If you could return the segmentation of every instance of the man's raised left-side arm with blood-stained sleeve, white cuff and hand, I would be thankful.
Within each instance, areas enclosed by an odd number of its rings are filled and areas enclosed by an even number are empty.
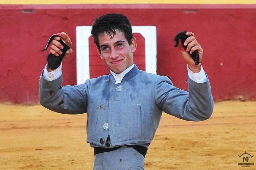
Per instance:
[[[61,54],[63,46],[58,42],[60,37],[55,37],[52,41],[52,46],[49,53],[56,56]],[[72,53],[69,49],[64,56],[68,57]],[[75,86],[62,87],[61,66],[51,70],[46,67],[40,76],[39,82],[39,101],[42,106],[59,113],[65,114],[81,114],[87,109],[87,94],[89,91],[90,82]]]

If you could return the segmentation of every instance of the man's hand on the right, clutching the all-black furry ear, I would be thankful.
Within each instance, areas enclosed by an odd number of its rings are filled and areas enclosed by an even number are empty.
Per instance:
[[[193,73],[198,73],[201,70],[200,62],[203,58],[203,49],[202,49],[201,45],[195,39],[194,33],[186,32],[186,35],[190,36],[184,42],[184,46],[187,46],[187,49],[185,50],[183,48],[183,45],[181,44],[181,41],[179,40],[180,52],[181,52],[181,55],[183,56],[184,60],[187,62],[189,69]],[[194,52],[196,50],[198,51],[198,54],[199,54],[199,64],[198,65],[195,64],[195,61],[189,55],[189,53],[192,54],[192,52]]]

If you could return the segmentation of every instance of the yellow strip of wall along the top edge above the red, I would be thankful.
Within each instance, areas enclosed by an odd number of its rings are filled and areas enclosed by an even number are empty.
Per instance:
[[[0,4],[256,4],[256,0],[0,0]]]

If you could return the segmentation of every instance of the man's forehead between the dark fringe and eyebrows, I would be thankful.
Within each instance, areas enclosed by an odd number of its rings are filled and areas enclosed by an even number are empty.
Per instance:
[[[118,29],[115,29],[115,31],[116,34],[112,39],[106,32],[100,33],[98,35],[99,45],[101,46],[102,44],[114,44],[115,42],[120,40],[127,42],[126,37],[124,36],[124,33],[122,31]],[[113,36],[113,34],[111,36]]]

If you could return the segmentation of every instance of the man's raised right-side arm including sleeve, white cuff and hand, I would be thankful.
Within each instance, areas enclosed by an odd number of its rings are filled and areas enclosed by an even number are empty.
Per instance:
[[[186,32],[186,35],[189,36],[184,42],[184,46],[187,46],[186,50],[183,48],[181,40],[179,40],[179,48],[189,67],[189,92],[174,87],[167,77],[161,77],[155,85],[155,100],[158,107],[170,115],[188,121],[203,121],[210,118],[213,112],[211,86],[200,63],[203,49],[197,42],[194,33]],[[199,55],[198,65],[189,55],[195,50]]]

